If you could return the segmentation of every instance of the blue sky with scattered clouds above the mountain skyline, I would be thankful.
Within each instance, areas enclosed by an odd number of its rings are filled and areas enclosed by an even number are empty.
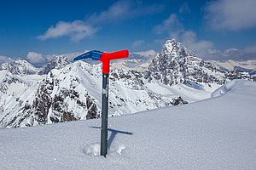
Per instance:
[[[255,2],[3,0],[0,62],[85,49],[160,51],[170,38],[204,59],[256,59]]]

